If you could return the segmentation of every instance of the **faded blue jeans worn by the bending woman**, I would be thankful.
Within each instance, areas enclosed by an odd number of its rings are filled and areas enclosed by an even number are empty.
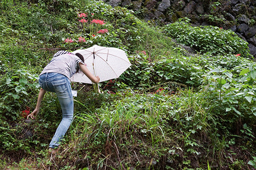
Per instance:
[[[73,119],[74,101],[70,81],[59,73],[47,72],[39,77],[39,85],[46,91],[55,92],[61,106],[62,119],[49,145],[50,148],[55,148],[58,147]]]

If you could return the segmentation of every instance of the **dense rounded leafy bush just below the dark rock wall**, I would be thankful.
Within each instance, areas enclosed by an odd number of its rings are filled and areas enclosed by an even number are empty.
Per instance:
[[[168,36],[178,42],[194,47],[200,53],[209,54],[241,54],[250,57],[248,43],[240,39],[231,30],[218,27],[191,27],[187,20],[169,24],[165,27]]]

